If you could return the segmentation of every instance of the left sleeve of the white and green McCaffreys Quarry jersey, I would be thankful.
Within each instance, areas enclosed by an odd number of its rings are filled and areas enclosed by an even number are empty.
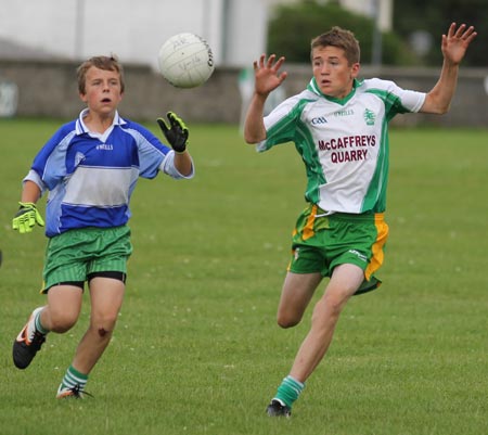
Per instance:
[[[256,144],[258,152],[265,152],[274,145],[294,140],[296,123],[300,117],[299,107],[298,95],[291,97],[265,117],[266,139]]]

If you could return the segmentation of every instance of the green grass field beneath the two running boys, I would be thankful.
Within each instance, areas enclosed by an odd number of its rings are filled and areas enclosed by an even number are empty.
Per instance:
[[[235,126],[190,126],[194,180],[140,181],[127,296],[87,386],[94,398],[54,398],[88,294],[72,331],[13,367],[12,341],[43,303],[46,239],[14,233],[11,218],[59,124],[0,120],[2,435],[487,433],[488,130],[391,131],[384,285],[348,304],[284,420],[265,408],[309,328],[310,309],[295,329],[275,324],[305,174],[293,146],[257,155]]]

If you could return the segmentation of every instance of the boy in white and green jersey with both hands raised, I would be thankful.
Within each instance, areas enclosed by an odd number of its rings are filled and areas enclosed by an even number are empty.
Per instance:
[[[444,114],[454,94],[459,64],[476,33],[452,23],[442,35],[440,77],[427,92],[391,81],[358,80],[360,49],[352,33],[333,27],[311,42],[313,78],[264,117],[269,93],[286,78],[284,57],[254,62],[255,90],[244,126],[258,151],[294,142],[307,171],[308,207],[293,233],[293,255],[278,307],[282,328],[296,325],[317,286],[330,277],[311,329],[290,374],[267,408],[290,417],[306,380],[324,357],[342,309],[354,295],[374,290],[388,235],[384,221],[388,177],[388,121],[398,113]]]

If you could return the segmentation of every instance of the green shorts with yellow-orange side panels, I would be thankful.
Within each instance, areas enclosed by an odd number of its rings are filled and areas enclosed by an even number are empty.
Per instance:
[[[364,293],[381,284],[374,273],[383,264],[387,238],[383,214],[325,216],[317,205],[310,205],[297,219],[287,270],[331,277],[338,265],[356,265],[364,271],[364,282],[356,294]]]

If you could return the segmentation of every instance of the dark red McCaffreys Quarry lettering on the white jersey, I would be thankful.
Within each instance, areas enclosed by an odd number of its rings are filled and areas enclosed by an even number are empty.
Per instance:
[[[369,148],[375,145],[374,135],[345,136],[330,141],[319,140],[319,150],[330,151],[332,163],[365,161]]]

